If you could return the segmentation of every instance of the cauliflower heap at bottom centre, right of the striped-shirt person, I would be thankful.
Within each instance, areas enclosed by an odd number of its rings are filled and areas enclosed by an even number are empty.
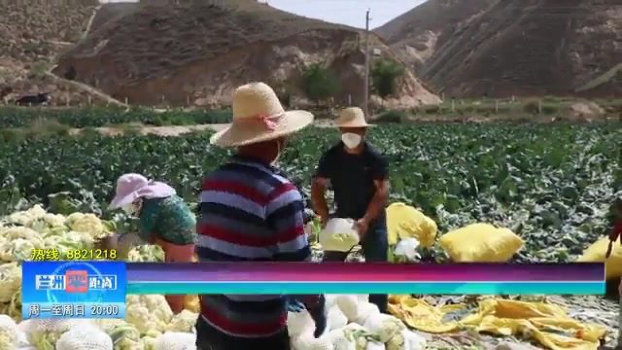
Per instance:
[[[293,350],[422,350],[425,339],[394,316],[380,313],[367,295],[326,295],[327,330],[313,337],[315,323],[304,310],[287,314]]]

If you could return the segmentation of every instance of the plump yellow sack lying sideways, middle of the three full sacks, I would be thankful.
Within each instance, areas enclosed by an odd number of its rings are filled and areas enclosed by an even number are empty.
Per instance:
[[[453,230],[439,243],[454,262],[507,262],[524,244],[511,230],[483,222]]]

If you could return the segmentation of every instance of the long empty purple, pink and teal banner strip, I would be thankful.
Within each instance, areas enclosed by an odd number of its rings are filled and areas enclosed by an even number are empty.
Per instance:
[[[130,294],[598,295],[602,263],[128,263]]]

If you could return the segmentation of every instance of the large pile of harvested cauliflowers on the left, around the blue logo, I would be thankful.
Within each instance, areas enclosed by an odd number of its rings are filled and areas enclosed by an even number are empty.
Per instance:
[[[198,313],[184,310],[173,315],[163,295],[128,296],[124,320],[34,319],[16,323],[22,315],[21,262],[32,259],[33,249],[56,250],[57,258],[62,258],[69,250],[92,248],[113,233],[110,227],[113,225],[93,214],[50,214],[40,206],[0,219],[0,350],[195,349]],[[162,262],[164,251],[157,245],[139,245],[129,252],[128,260]]]

